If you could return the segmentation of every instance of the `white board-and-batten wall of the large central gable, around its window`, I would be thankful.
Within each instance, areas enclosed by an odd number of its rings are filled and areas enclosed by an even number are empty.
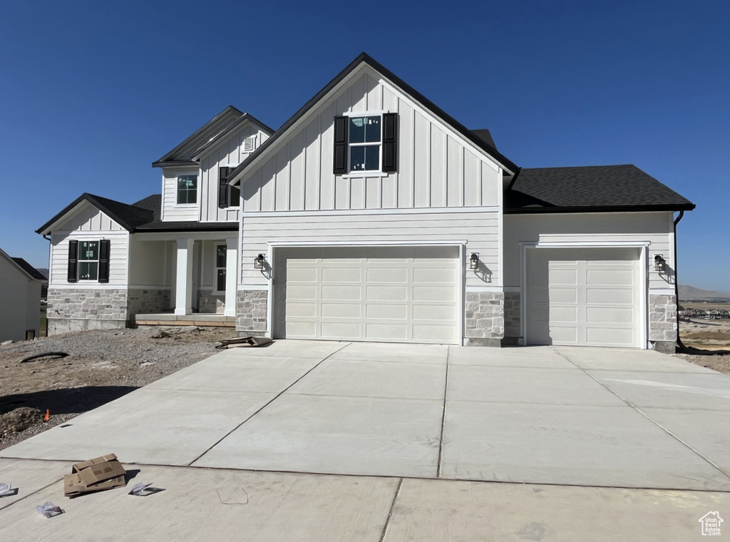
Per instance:
[[[354,112],[398,115],[396,172],[334,174],[334,118]],[[501,199],[502,164],[367,63],[282,130],[242,167],[244,211],[477,207]]]

